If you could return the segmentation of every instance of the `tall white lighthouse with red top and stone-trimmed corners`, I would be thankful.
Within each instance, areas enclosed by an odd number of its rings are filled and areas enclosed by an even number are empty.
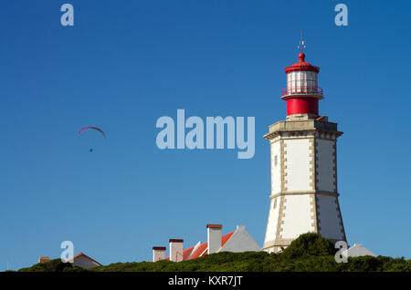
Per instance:
[[[301,42],[301,44],[303,44]],[[271,155],[269,218],[263,250],[277,253],[302,233],[320,233],[345,241],[337,188],[337,123],[319,114],[323,98],[320,67],[301,51],[299,61],[285,68],[287,118],[269,126],[264,136]]]

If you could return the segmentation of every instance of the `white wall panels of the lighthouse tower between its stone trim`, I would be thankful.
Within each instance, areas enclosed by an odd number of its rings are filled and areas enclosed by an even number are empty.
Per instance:
[[[296,131],[294,136],[285,133],[285,136],[271,140],[271,196],[282,192],[281,188],[281,156],[280,142],[284,142],[284,181],[285,202],[282,210],[280,224],[280,237],[277,237],[277,225],[279,222],[280,197],[277,198],[277,206],[274,208],[275,199],[269,202],[269,218],[266,228],[264,243],[276,241],[276,239],[295,239],[301,233],[316,232],[315,215],[318,214],[319,233],[324,237],[343,240],[342,218],[335,196],[316,194],[318,198],[317,210],[311,194],[317,191],[337,192],[336,188],[336,164],[334,140],[315,139],[317,152],[314,157],[312,147],[312,132],[307,133],[308,138],[304,138]],[[302,137],[302,138],[301,138]],[[277,156],[277,166],[275,165]],[[314,174],[314,158],[316,158],[316,177]],[[317,189],[315,188],[317,180]],[[299,194],[301,193],[301,194]]]

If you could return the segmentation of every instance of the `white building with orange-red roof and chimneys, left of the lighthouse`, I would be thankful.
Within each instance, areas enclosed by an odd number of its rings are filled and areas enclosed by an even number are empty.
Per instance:
[[[165,260],[181,262],[193,260],[219,252],[248,252],[261,251],[261,247],[246,231],[245,226],[237,225],[234,232],[222,235],[221,224],[207,224],[207,242],[198,242],[195,245],[184,249],[184,241],[181,239],[170,239],[170,256]],[[165,247],[153,247],[153,262],[164,259]]]

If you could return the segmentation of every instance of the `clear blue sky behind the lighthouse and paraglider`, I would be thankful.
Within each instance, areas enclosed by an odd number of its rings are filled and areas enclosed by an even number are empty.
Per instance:
[[[75,26],[59,23],[60,5]],[[245,225],[262,245],[268,126],[285,119],[284,67],[321,67],[321,115],[339,123],[350,244],[411,258],[409,1],[8,1],[0,10],[0,270],[59,257],[150,261],[153,245]],[[155,122],[256,118],[256,154],[159,150]],[[107,134],[89,131],[98,126]],[[94,152],[89,149],[93,147]]]

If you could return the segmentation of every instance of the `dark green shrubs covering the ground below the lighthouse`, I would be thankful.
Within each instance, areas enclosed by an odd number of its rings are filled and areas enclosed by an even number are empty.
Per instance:
[[[333,243],[317,233],[301,234],[290,246],[279,254],[266,252],[207,254],[195,260],[174,263],[170,261],[116,263],[90,270],[71,267],[59,259],[47,264],[35,264],[20,271],[93,271],[93,272],[277,272],[277,271],[317,271],[317,272],[368,272],[407,271],[411,272],[411,260],[384,256],[363,256],[348,258],[348,263],[336,263]]]

